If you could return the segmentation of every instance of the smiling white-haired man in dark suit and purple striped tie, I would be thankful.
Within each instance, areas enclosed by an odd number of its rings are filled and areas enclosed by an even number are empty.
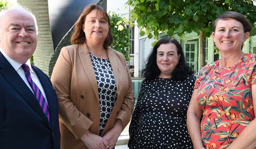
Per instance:
[[[29,61],[36,45],[33,14],[0,13],[0,149],[60,149],[55,91]]]

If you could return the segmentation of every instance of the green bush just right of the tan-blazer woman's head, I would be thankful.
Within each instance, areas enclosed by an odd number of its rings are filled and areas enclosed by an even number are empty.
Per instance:
[[[128,19],[114,12],[109,12],[108,15],[110,18],[111,31],[114,37],[114,41],[111,45],[111,48],[124,54],[125,60],[129,61],[130,32],[129,29],[126,27],[126,24],[128,24]]]

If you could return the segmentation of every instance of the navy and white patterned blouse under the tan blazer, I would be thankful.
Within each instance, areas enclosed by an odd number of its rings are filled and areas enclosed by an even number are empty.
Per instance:
[[[95,57],[91,53],[90,58],[93,63],[93,69],[98,84],[100,107],[99,135],[101,135],[116,103],[116,80],[108,59]]]

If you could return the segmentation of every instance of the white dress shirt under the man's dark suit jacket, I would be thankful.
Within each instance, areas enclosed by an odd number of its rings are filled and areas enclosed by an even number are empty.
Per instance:
[[[8,55],[6,55],[6,53],[3,51],[3,49],[0,48],[0,52],[3,54],[3,56],[6,58],[6,60],[8,60],[8,62],[12,65],[12,67],[16,70],[16,72],[20,75],[20,77],[22,78],[22,80],[26,83],[26,85],[29,87],[29,89],[31,90],[31,92],[34,94],[33,89],[31,88],[31,86],[29,85],[29,82],[26,80],[26,75],[25,72],[23,70],[23,68],[21,67],[22,63],[18,63],[17,61],[13,60],[12,58],[10,58]],[[26,64],[29,66],[29,72],[31,74],[31,78],[34,81],[34,83],[38,86],[38,88],[40,89],[40,91],[42,92],[42,94],[44,95],[44,99],[47,103],[48,106],[48,102],[47,102],[47,97],[45,95],[44,92],[44,88],[41,85],[38,76],[36,75],[36,73],[33,71],[32,67],[31,67],[31,63],[30,60],[28,60],[26,62]]]

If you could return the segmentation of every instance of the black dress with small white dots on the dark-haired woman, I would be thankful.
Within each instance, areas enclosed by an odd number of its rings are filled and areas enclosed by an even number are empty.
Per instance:
[[[192,149],[186,112],[195,76],[143,81],[129,128],[130,149]]]

